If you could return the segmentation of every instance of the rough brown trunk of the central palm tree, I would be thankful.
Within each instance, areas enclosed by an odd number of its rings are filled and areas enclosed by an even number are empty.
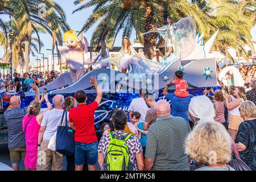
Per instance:
[[[146,26],[145,31],[155,30],[157,27],[156,21],[154,19],[154,14],[150,6],[146,7]],[[154,55],[154,48],[156,46],[156,40],[158,39],[157,33],[150,33],[143,36],[144,38],[144,55],[147,59],[152,59]]]

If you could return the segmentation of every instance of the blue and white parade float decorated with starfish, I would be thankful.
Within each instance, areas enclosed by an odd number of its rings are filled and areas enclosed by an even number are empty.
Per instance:
[[[158,63],[152,60],[138,59],[137,61],[140,64],[129,64],[129,69],[126,73],[112,68],[98,68],[84,73],[77,81],[73,82],[72,72],[74,71],[65,72],[50,84],[39,88],[39,91],[42,93],[44,89],[47,89],[49,100],[51,101],[56,94],[68,97],[74,96],[77,90],[85,90],[88,97],[87,102],[90,103],[96,98],[96,92],[90,83],[90,77],[95,76],[98,86],[103,92],[101,104],[95,115],[96,131],[100,131],[101,123],[109,121],[110,112],[114,108],[118,107],[128,111],[130,102],[139,97],[140,89],[154,92],[156,100],[165,100],[163,88],[178,70],[184,72],[184,79],[188,82],[188,91],[192,96],[203,94],[204,89],[207,87],[217,88],[217,64],[215,58],[210,57],[210,48],[218,31],[212,35],[208,42],[204,43],[203,34],[200,35],[200,32],[196,32],[195,20],[187,17],[175,23],[174,26],[168,27],[167,25],[167,27],[158,28],[154,32],[161,35],[166,40],[166,47],[168,48],[171,45],[176,54],[171,56],[165,64],[155,69],[154,72],[152,72],[150,66]],[[72,43],[73,41],[69,40],[69,46]],[[86,39],[84,43],[86,43]],[[76,44],[81,44],[81,41],[77,40]],[[88,46],[88,43],[86,45]],[[81,48],[81,51],[86,50],[86,45]],[[62,48],[60,51],[67,55],[70,47]],[[84,64],[97,64],[92,63],[92,61],[83,61]],[[145,68],[145,64],[149,66],[146,65]],[[174,92],[174,90],[175,86],[171,86],[169,91]],[[25,98],[22,98],[22,107],[28,106],[34,100],[35,93],[26,92],[25,96]],[[2,108],[6,108],[8,105],[7,102],[3,101]],[[46,107],[46,104],[42,105],[42,107]]]

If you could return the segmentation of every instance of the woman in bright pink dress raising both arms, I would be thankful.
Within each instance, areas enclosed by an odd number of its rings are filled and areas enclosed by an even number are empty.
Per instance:
[[[40,113],[41,104],[44,100],[46,100],[47,109],[43,111],[43,113]],[[36,160],[38,158],[38,134],[43,120],[43,115],[46,111],[51,109],[52,105],[48,101],[47,94],[43,94],[39,102],[31,102],[30,106],[28,106],[27,114],[23,117],[22,126],[25,134],[27,150],[24,164],[31,171],[36,171]]]

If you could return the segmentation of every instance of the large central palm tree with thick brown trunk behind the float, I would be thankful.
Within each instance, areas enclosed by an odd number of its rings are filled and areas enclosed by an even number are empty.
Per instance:
[[[81,5],[81,3],[83,3]],[[201,32],[209,35],[208,16],[199,9],[196,3],[187,0],[76,0],[81,5],[73,13],[94,6],[93,13],[86,20],[81,31],[88,31],[98,23],[94,30],[91,46],[96,47],[101,39],[108,39],[108,46],[113,47],[118,32],[131,36],[133,30],[144,44],[144,52],[151,58],[157,34],[142,36],[142,33],[163,26],[168,15],[176,22],[185,16],[192,16]]]

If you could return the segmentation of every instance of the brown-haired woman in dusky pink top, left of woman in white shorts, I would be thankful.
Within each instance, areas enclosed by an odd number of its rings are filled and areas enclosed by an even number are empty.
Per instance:
[[[216,117],[214,117],[214,121],[220,122],[227,129],[228,123],[226,122],[225,119],[224,94],[221,90],[216,90],[214,92],[214,100],[217,102]]]

